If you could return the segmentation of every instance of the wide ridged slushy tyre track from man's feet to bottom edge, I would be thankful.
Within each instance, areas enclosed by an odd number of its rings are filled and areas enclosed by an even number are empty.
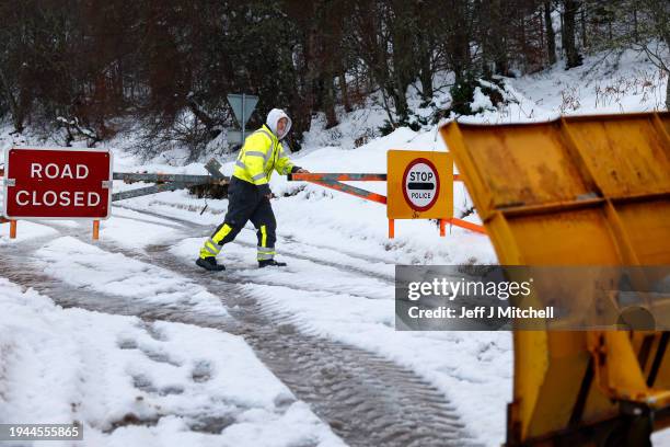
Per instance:
[[[298,399],[308,402],[351,446],[475,446],[457,409],[413,370],[380,355],[300,332],[291,316],[262,305],[220,276],[185,272],[168,247],[149,249],[157,262],[222,296],[242,335]],[[221,275],[224,276],[224,275]]]

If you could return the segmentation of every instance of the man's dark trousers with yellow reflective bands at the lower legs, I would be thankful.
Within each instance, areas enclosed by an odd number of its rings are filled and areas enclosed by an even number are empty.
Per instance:
[[[256,185],[233,176],[228,186],[228,213],[223,224],[205,241],[200,257],[216,256],[221,247],[235,239],[249,220],[256,227],[258,261],[273,259],[277,220],[269,198],[262,196]]]

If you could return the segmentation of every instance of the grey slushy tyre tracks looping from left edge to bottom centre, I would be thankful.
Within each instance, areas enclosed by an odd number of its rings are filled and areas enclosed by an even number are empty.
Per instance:
[[[58,229],[61,234],[86,239],[78,229]],[[43,241],[49,239],[53,237],[43,238]],[[234,277],[188,268],[183,260],[168,251],[169,245],[152,245],[147,248],[147,253],[141,253],[108,243],[96,244],[102,250],[152,262],[197,282],[221,298],[235,319],[233,323],[163,305],[139,306],[127,297],[111,297],[63,285],[31,265],[30,253],[39,247],[39,240],[12,247],[13,253],[3,255],[8,262],[0,266],[0,275],[44,291],[59,305],[138,314],[149,321],[183,322],[241,335],[297,398],[308,402],[351,446],[477,445],[443,393],[411,369],[377,354],[298,331],[291,316],[276,307],[263,306]]]

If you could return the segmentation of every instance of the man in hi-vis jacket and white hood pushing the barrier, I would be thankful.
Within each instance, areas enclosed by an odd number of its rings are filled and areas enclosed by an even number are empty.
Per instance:
[[[280,108],[273,108],[265,125],[250,135],[240,150],[230,185],[228,186],[228,213],[205,241],[196,264],[210,272],[224,271],[217,263],[217,254],[223,244],[231,242],[247,220],[256,227],[258,236],[258,267],[285,266],[275,261],[275,229],[277,222],[270,205],[269,180],[273,170],[286,175],[309,172],[294,165],[285,154],[281,140],[291,129],[291,118]]]

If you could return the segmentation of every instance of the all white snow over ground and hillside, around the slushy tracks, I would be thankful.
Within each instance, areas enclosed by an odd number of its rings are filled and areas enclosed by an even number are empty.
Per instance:
[[[667,81],[633,54],[625,54],[616,67],[593,57],[578,69],[556,67],[506,80],[511,102],[495,108],[477,96],[483,112],[467,119],[498,123],[548,119],[559,113],[659,110]],[[436,103],[448,101],[447,90],[439,90]],[[418,106],[416,95],[411,104]],[[383,118],[373,98],[368,107],[343,115],[335,128],[325,130],[316,118],[305,148],[293,159],[312,172],[385,172],[389,149],[447,150],[436,126],[400,128],[374,138]],[[362,135],[367,144],[355,149]],[[0,135],[0,144],[2,149],[12,138]],[[130,146],[131,140],[119,137],[109,144],[115,145]],[[221,161],[230,174],[232,160]],[[201,163],[174,164],[169,157],[141,162],[115,147],[115,171],[205,173]],[[381,183],[359,186],[385,193]],[[126,187],[115,183],[117,191]],[[396,237],[390,240],[381,205],[278,175],[272,188],[277,195],[278,257],[289,265],[256,270],[256,237],[249,225],[220,255],[229,267],[224,275],[239,285],[235,293],[254,297],[265,311],[289,319],[304,334],[415,371],[455,406],[472,436],[499,445],[511,398],[511,335],[394,331],[395,264],[496,263],[488,239],[455,227],[440,238],[435,222],[406,220],[396,222]],[[458,183],[454,204],[457,216],[472,206]],[[23,252],[28,273],[46,275],[68,290],[231,320],[235,309],[219,297],[227,294],[226,285],[218,293],[193,276],[203,238],[222,221],[227,206],[227,200],[197,199],[184,191],[123,200],[103,222],[100,244],[90,241],[81,222],[21,221],[13,241],[3,225],[0,265],[3,250]],[[465,219],[478,222],[476,215]],[[154,249],[161,245],[168,250]],[[155,257],[166,255],[178,260],[178,268],[161,266]],[[21,280],[25,286],[25,277]],[[0,278],[0,422],[77,420],[91,446],[343,444],[239,336],[63,309],[22,286]],[[670,437],[657,435],[655,444],[670,445]]]

